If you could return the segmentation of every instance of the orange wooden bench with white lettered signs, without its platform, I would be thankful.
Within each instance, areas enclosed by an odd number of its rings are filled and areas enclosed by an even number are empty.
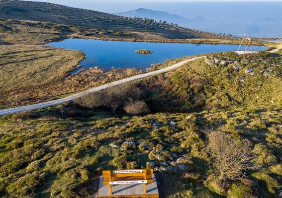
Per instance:
[[[113,194],[113,185],[116,184],[144,184],[144,193],[147,193],[147,183],[153,182],[153,169],[136,170],[105,170],[103,171],[103,185],[109,185],[110,194]]]

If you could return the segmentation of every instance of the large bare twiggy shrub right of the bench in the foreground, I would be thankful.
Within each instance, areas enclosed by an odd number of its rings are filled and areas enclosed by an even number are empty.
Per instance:
[[[209,131],[207,135],[210,167],[219,181],[243,179],[247,170],[258,168],[252,163],[257,155],[247,139],[239,140],[221,131]]]

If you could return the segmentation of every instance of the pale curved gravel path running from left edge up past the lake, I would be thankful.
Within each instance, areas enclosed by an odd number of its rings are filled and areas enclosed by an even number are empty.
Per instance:
[[[48,101],[48,102],[41,102],[41,103],[38,103],[38,104],[32,104],[32,105],[27,105],[27,106],[20,106],[20,107],[14,107],[14,108],[9,108],[9,109],[2,109],[2,110],[0,110],[0,116],[7,115],[7,114],[12,114],[12,113],[18,113],[18,112],[21,112],[21,111],[40,109],[40,108],[45,108],[45,107],[49,107],[49,106],[54,106],[54,105],[58,105],[58,104],[61,104],[61,103],[65,103],[65,102],[77,99],[77,98],[79,98],[81,96],[85,96],[85,95],[87,95],[89,93],[98,92],[100,90],[103,90],[103,89],[106,89],[106,88],[109,88],[109,87],[114,87],[114,86],[121,85],[121,84],[124,84],[124,83],[127,83],[127,82],[131,82],[131,81],[135,81],[135,80],[138,80],[138,79],[142,79],[142,78],[145,78],[145,77],[149,77],[149,76],[154,76],[154,75],[157,75],[157,74],[165,73],[165,72],[168,72],[168,71],[173,70],[175,68],[178,68],[178,67],[182,66],[183,64],[185,64],[187,62],[191,62],[191,61],[203,58],[203,57],[205,57],[205,56],[200,56],[200,57],[195,57],[195,58],[190,58],[190,59],[187,59],[187,60],[183,60],[183,61],[178,62],[176,64],[173,64],[173,65],[171,65],[171,66],[169,66],[167,68],[163,68],[163,69],[160,69],[160,70],[148,72],[148,73],[145,73],[145,74],[140,74],[140,75],[132,76],[132,77],[129,77],[129,78],[126,78],[126,79],[122,79],[122,80],[119,80],[119,81],[115,81],[115,82],[112,82],[112,83],[101,85],[99,87],[94,87],[94,88],[91,88],[91,89],[88,89],[86,91],[82,91],[82,92],[73,94],[73,95],[65,97],[65,98],[60,98],[60,99],[57,99],[57,100],[52,100],[52,101]]]

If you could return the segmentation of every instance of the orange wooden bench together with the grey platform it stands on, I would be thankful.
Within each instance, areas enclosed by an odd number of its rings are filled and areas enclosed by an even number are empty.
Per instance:
[[[98,197],[158,198],[153,169],[106,170],[100,177]]]

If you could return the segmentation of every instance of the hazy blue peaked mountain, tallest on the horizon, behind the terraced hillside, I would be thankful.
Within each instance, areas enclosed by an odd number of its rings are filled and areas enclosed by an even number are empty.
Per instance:
[[[113,13],[115,15],[125,16],[125,17],[139,17],[139,18],[149,18],[153,19],[157,22],[166,21],[169,24],[177,24],[179,26],[189,26],[190,24],[195,23],[207,23],[209,20],[205,19],[204,17],[198,16],[193,19],[186,19],[184,17],[181,17],[179,15],[175,14],[169,14],[164,11],[155,11],[155,10],[149,10],[144,8],[138,8],[136,10],[131,10],[127,12],[121,12],[121,13]]]

